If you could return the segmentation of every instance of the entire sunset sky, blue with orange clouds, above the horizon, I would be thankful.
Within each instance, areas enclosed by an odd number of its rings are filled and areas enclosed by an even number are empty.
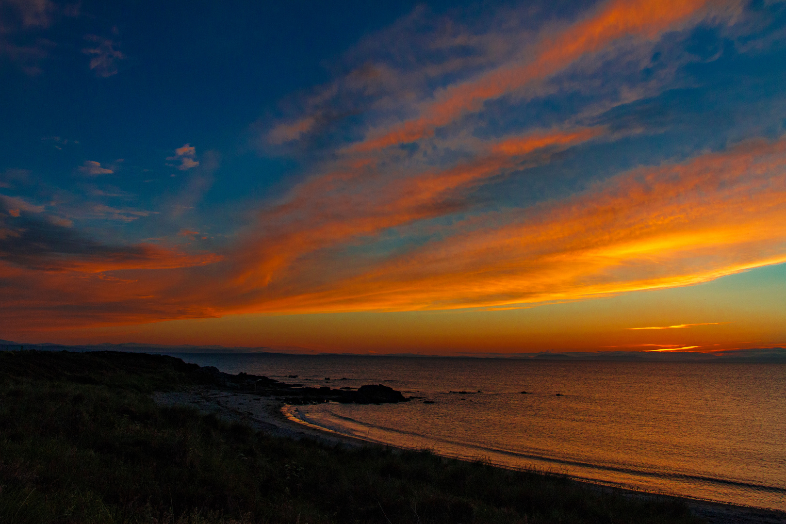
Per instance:
[[[786,346],[786,2],[0,0],[0,339]]]

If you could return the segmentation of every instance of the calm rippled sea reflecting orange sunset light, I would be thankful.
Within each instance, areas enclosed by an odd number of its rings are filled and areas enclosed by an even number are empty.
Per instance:
[[[178,356],[305,385],[383,383],[434,401],[292,410],[376,442],[786,510],[783,364]],[[462,390],[476,393],[450,393]]]

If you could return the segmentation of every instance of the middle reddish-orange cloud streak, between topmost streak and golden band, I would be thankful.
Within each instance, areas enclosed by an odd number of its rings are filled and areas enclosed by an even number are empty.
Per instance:
[[[262,224],[277,225],[241,248],[248,268],[238,277],[245,285],[270,284],[299,257],[383,229],[457,211],[455,192],[504,173],[523,156],[567,148],[604,133],[603,127],[552,130],[486,145],[477,159],[444,170],[403,178],[385,178],[373,164],[361,162],[345,171],[314,178],[296,189],[287,203],[263,212]]]

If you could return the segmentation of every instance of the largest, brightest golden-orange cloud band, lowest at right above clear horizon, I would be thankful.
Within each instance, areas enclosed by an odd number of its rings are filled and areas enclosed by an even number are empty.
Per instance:
[[[459,233],[352,267],[354,276],[335,253],[303,258],[244,310],[504,306],[698,284],[786,262],[784,163],[782,139],[632,170],[561,202],[468,218],[450,226]]]

